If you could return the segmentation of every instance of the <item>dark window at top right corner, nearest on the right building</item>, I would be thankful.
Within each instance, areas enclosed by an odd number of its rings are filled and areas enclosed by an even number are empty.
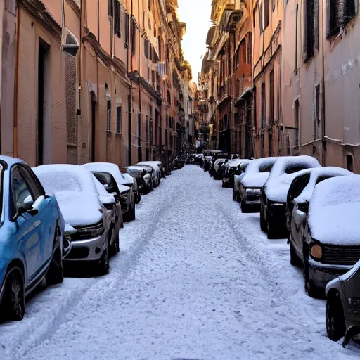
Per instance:
[[[356,0],[329,0],[328,34],[331,37],[357,14]]]

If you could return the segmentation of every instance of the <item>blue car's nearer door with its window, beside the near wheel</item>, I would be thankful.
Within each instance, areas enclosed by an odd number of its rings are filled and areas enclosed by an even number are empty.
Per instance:
[[[23,212],[23,210],[30,210],[35,200],[21,173],[21,166],[14,165],[11,168],[10,216],[16,222],[17,244],[25,259],[27,285],[32,282],[41,268],[41,219],[37,214],[31,215],[28,212],[24,212],[16,219],[15,217],[16,214]]]

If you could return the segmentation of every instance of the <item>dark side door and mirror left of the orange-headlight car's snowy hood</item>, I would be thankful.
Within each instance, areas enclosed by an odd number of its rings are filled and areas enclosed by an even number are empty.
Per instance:
[[[302,254],[304,243],[304,223],[309,211],[308,203],[299,203],[297,197],[302,193],[305,186],[309,184],[310,174],[297,177],[291,186],[291,193],[288,193],[288,204],[290,204],[290,235],[293,238],[295,250]]]

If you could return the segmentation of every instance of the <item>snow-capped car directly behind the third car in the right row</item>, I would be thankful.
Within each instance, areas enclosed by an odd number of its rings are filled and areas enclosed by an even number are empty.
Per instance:
[[[259,212],[262,188],[269,178],[272,167],[278,158],[253,160],[245,169],[238,183],[239,201],[242,212]]]

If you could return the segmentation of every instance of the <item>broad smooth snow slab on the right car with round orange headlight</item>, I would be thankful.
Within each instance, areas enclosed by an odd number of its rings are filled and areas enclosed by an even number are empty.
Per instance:
[[[360,175],[321,181],[309,207],[311,237],[323,244],[360,245]]]

